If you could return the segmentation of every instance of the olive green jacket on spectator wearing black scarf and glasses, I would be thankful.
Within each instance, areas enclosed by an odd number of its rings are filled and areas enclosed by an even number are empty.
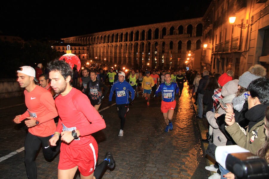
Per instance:
[[[258,150],[261,148],[262,144],[265,143],[265,132],[264,132],[264,120],[259,121],[257,124],[255,124],[251,129],[250,132],[245,131],[246,134],[244,134],[243,130],[241,130],[241,127],[239,124],[234,123],[231,126],[227,126],[225,129],[230,134],[230,136],[233,138],[233,140],[236,142],[237,145],[249,150],[254,155],[257,155]],[[253,132],[257,131],[257,136],[254,138],[253,142],[250,142],[251,138],[253,136]]]

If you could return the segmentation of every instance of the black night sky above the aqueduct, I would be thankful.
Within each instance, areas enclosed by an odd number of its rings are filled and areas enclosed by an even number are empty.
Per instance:
[[[203,17],[211,0],[5,1],[0,34],[59,39],[139,25]],[[153,3],[154,2],[154,3]]]

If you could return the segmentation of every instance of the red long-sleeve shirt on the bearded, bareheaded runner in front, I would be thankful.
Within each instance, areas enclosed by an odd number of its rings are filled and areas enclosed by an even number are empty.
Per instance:
[[[76,88],[72,88],[65,96],[57,96],[55,104],[60,119],[56,131],[80,130],[81,136],[77,140],[73,140],[69,146],[88,145],[92,133],[106,128],[104,119],[91,105],[88,97]]]

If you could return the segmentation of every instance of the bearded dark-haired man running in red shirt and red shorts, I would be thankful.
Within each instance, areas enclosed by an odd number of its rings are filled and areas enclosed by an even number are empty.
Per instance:
[[[59,94],[55,98],[59,124],[50,139],[52,146],[56,145],[60,135],[63,141],[58,178],[74,178],[77,169],[80,171],[80,178],[99,178],[106,166],[112,169],[115,165],[113,156],[107,153],[105,160],[95,169],[98,146],[91,134],[104,129],[105,121],[91,105],[88,97],[71,86],[73,71],[68,63],[62,60],[51,61],[48,70],[51,86]]]

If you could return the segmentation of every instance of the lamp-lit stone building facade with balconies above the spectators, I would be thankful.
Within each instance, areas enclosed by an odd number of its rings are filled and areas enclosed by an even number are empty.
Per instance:
[[[234,72],[234,79],[254,64],[268,71],[268,0],[213,0],[204,17],[201,65],[211,72]],[[233,24],[229,17],[236,17]]]

